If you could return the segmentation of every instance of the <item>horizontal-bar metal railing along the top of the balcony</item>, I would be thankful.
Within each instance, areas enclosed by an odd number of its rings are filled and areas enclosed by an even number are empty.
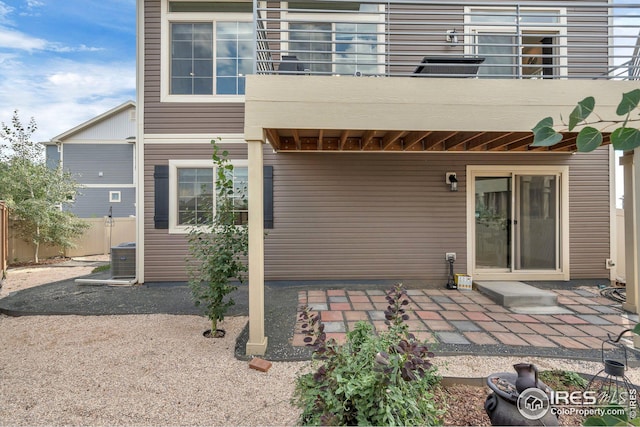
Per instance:
[[[259,74],[640,79],[640,3],[254,0]]]

